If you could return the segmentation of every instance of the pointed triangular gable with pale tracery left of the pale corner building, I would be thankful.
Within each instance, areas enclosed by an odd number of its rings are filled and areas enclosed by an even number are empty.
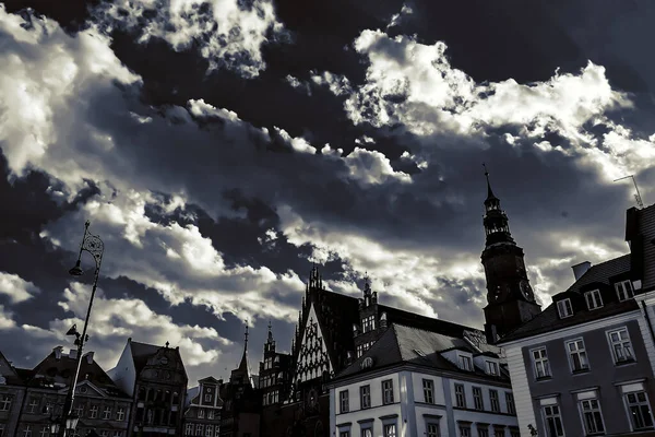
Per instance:
[[[325,371],[330,374],[334,371],[313,304],[309,308],[301,332],[302,340],[297,345],[298,358],[294,373],[294,383],[318,378]]]

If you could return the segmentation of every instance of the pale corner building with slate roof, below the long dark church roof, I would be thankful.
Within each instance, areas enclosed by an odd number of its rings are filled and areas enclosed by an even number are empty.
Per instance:
[[[499,352],[468,335],[392,324],[329,383],[330,435],[519,436]]]

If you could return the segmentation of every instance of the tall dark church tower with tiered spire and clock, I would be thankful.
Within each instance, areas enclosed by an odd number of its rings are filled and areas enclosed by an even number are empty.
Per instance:
[[[485,234],[483,265],[487,277],[487,303],[485,307],[485,333],[489,343],[531,320],[541,311],[529,285],[523,249],[516,246],[507,214],[500,208],[491,190],[489,172],[487,178],[487,200],[485,200]]]

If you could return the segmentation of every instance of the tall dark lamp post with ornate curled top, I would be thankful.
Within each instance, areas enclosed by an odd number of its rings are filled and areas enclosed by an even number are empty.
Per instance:
[[[82,335],[78,333],[76,327],[73,327],[67,332],[68,335],[75,335],[75,343],[78,345],[78,356],[75,364],[75,374],[73,375],[73,380],[71,381],[71,388],[66,395],[66,401],[63,402],[63,411],[61,414],[61,426],[59,428],[58,436],[64,437],[67,435],[72,435],[72,432],[78,426],[78,421],[80,417],[73,413],[73,401],[75,399],[75,388],[78,386],[78,377],[80,376],[80,367],[82,365],[82,351],[84,349],[84,343],[88,340],[88,335],[86,335],[86,328],[88,327],[88,318],[91,317],[91,308],[93,307],[93,298],[95,297],[95,292],[98,286],[98,277],[100,274],[100,264],[103,262],[103,252],[105,250],[105,245],[99,236],[93,235],[88,232],[90,221],[84,223],[84,237],[82,238],[82,244],[80,245],[80,253],[78,255],[78,262],[75,267],[69,270],[69,273],[73,276],[81,276],[84,272],[80,267],[82,252],[87,251],[93,256],[93,259],[96,263],[94,279],[93,279],[93,290],[91,292],[91,299],[88,300],[88,309],[86,310],[86,318],[84,319],[84,328],[82,328]]]

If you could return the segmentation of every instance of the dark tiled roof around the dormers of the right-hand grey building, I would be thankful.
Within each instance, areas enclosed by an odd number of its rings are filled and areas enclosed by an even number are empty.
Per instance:
[[[580,293],[581,288],[585,285],[593,283],[602,283],[610,285],[610,277],[621,273],[630,271],[630,253],[621,257],[611,259],[609,261],[602,262],[596,265],[592,265],[573,285],[571,285],[564,293],[560,293],[556,296],[560,296],[567,293]],[[555,296],[553,296],[555,297]],[[581,323],[586,323],[593,320],[603,319],[606,317],[615,316],[621,312],[631,311],[638,309],[639,306],[633,299],[626,302],[608,302],[605,306],[588,310],[586,308],[576,310],[573,316],[563,319],[559,318],[557,310],[557,304],[550,304],[544,311],[535,316],[528,322],[520,326],[515,330],[509,332],[502,339],[500,344],[511,342],[514,340],[524,339],[527,336],[538,335],[545,332],[555,331],[562,328],[569,328]]]

